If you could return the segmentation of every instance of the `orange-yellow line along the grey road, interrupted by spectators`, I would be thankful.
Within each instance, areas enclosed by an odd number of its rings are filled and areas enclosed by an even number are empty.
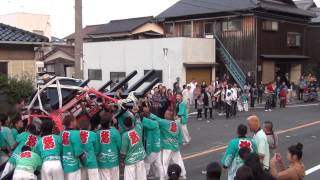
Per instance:
[[[278,135],[281,135],[281,134],[284,134],[284,133],[287,133],[287,132],[295,131],[295,130],[298,130],[298,129],[302,129],[302,128],[306,128],[306,127],[310,127],[310,126],[318,125],[318,124],[320,124],[320,121],[315,121],[315,122],[312,122],[312,123],[303,124],[303,125],[296,126],[296,127],[293,127],[293,128],[277,131],[276,133]],[[208,150],[205,150],[205,151],[202,151],[202,152],[199,152],[199,153],[194,153],[194,154],[191,154],[191,155],[184,156],[182,159],[183,160],[193,159],[193,158],[204,156],[204,155],[207,155],[207,154],[210,154],[210,153],[213,153],[213,152],[218,152],[218,151],[225,150],[227,147],[228,147],[227,144],[225,144],[223,146],[220,146],[220,147],[213,147],[211,149],[208,149]]]

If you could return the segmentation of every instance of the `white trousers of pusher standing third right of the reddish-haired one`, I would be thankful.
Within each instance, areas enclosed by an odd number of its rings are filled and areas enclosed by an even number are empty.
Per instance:
[[[144,161],[124,167],[124,180],[147,180]]]

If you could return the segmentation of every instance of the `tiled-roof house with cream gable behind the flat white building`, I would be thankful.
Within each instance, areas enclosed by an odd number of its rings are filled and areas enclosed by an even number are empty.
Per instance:
[[[152,16],[112,20],[106,24],[86,26],[82,30],[84,42],[147,39],[163,36],[163,29],[153,22]],[[74,43],[74,34],[65,37]]]

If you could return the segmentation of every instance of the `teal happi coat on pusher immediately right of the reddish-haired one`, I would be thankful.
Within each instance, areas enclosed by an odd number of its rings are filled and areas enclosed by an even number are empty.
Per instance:
[[[97,134],[92,131],[80,130],[80,142],[85,153],[83,167],[87,169],[98,168],[97,154],[98,154],[98,139]]]

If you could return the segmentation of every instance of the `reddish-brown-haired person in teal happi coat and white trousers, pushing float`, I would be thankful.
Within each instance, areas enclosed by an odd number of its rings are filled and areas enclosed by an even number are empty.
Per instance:
[[[76,130],[77,121],[72,115],[67,115],[63,119],[63,125],[65,129],[61,133],[61,139],[64,179],[81,179],[79,157],[83,155],[83,151],[79,141],[79,131]]]

